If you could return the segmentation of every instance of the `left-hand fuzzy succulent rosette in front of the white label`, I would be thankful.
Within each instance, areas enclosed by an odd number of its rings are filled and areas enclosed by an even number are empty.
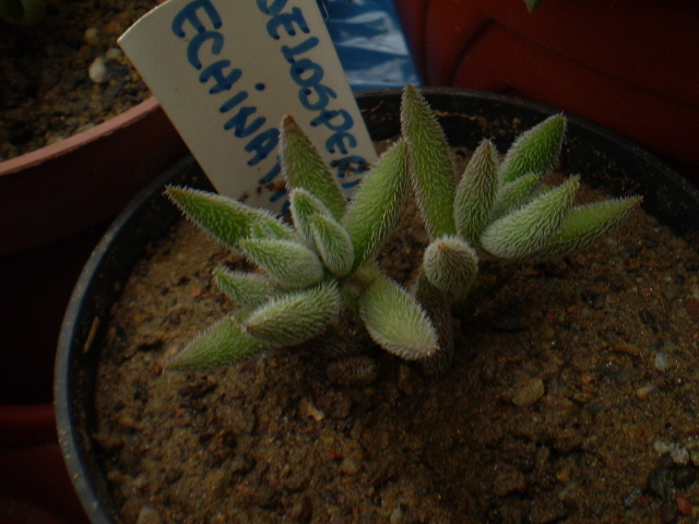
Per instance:
[[[391,353],[416,359],[437,350],[424,308],[374,260],[400,218],[407,188],[406,144],[399,141],[381,156],[348,203],[291,116],[282,122],[280,157],[292,225],[215,193],[167,188],[188,217],[260,270],[215,270],[214,281],[240,309],[197,337],[167,367],[220,366],[303,344],[321,334],[342,309],[354,311]]]

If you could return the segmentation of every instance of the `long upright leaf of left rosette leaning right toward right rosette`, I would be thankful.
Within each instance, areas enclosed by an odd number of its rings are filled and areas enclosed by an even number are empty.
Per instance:
[[[372,259],[400,218],[407,180],[407,145],[399,141],[364,178],[344,226],[354,246],[354,269]]]

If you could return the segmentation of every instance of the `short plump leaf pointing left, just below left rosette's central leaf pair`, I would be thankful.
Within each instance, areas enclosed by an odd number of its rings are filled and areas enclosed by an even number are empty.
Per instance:
[[[240,251],[281,286],[308,287],[323,277],[323,264],[306,246],[289,240],[240,240]]]

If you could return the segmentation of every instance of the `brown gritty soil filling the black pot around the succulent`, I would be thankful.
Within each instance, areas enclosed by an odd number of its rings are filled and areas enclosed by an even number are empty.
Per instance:
[[[582,191],[582,200],[593,198]],[[599,198],[599,195],[594,196]],[[410,278],[410,221],[382,253]],[[699,508],[699,254],[637,213],[583,253],[489,261],[440,378],[370,344],[210,372],[164,359],[240,262],[188,223],[123,290],[95,439],[125,523],[672,523]]]

